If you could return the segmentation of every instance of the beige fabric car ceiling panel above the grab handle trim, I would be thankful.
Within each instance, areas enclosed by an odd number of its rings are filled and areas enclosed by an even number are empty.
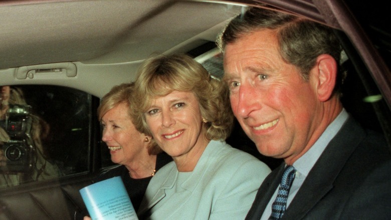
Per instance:
[[[0,68],[64,61],[122,63],[173,49],[238,8],[176,1],[55,1],[0,7]],[[228,12],[228,13],[227,13]],[[199,42],[199,44],[202,42]]]

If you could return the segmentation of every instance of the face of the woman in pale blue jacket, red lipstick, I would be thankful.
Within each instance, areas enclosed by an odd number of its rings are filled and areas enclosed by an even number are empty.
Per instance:
[[[181,157],[205,147],[199,102],[192,92],[172,91],[152,99],[145,120],[160,148]]]

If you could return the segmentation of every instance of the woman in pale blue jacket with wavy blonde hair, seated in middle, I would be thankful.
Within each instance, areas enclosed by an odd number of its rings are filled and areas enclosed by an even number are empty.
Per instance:
[[[225,143],[233,123],[228,95],[225,83],[186,55],[140,67],[133,122],[173,158],[149,183],[140,218],[245,218],[270,169]]]

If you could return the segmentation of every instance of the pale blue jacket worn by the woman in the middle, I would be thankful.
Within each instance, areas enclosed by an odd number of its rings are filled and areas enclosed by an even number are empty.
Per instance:
[[[269,167],[250,154],[211,141],[181,185],[176,186],[174,162],[162,167],[149,182],[137,215],[159,220],[244,219],[269,173]],[[168,192],[173,195],[165,198]],[[158,202],[162,203],[156,208]]]

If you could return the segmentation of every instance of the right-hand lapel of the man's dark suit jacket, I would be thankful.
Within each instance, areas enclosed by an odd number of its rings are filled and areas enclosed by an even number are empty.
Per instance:
[[[330,141],[284,213],[286,219],[301,219],[333,188],[333,183],[365,132],[350,117]]]

